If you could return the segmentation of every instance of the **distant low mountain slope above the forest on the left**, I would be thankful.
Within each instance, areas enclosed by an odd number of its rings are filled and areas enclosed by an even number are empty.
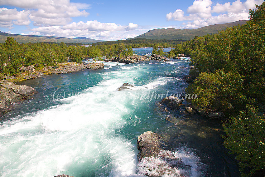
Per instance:
[[[87,37],[54,37],[54,36],[35,36],[35,35],[22,35],[22,34],[9,34],[5,32],[0,32],[0,42],[4,43],[8,36],[13,37],[18,43],[36,43],[36,42],[64,42],[64,43],[81,43],[81,44],[91,44],[95,42],[102,42],[95,39],[90,39]]]

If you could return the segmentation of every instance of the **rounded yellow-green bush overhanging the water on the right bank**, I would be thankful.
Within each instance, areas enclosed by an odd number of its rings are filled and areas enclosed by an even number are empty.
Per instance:
[[[247,102],[243,95],[242,76],[234,72],[202,72],[186,91],[197,94],[192,102],[205,111],[224,111],[227,114],[234,111],[236,114]]]

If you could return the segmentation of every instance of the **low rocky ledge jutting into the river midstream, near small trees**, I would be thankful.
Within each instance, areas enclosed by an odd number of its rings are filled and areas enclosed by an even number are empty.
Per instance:
[[[112,62],[119,62],[119,63],[135,63],[138,61],[148,61],[148,60],[161,60],[167,61],[166,57],[162,57],[160,55],[152,54],[151,57],[142,56],[142,55],[133,55],[133,56],[126,56],[126,57],[115,57],[115,58],[105,58],[104,61],[112,61]]]

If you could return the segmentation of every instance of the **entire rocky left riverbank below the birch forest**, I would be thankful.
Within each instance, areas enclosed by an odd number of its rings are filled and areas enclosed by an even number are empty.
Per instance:
[[[37,92],[30,86],[17,85],[14,82],[26,81],[27,79],[35,79],[38,77],[47,76],[50,74],[62,74],[80,71],[83,69],[102,69],[103,63],[76,63],[65,62],[59,63],[58,68],[49,66],[43,67],[41,70],[35,70],[33,66],[21,67],[21,70],[25,70],[24,73],[19,76],[2,76],[4,80],[0,81],[0,117],[5,113],[12,111],[15,105],[22,101],[31,99]]]

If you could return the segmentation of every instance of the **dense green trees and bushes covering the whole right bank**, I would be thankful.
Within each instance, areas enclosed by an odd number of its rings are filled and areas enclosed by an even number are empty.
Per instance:
[[[265,2],[245,25],[177,45],[191,58],[194,107],[223,111],[224,145],[237,155],[242,176],[265,175]]]

